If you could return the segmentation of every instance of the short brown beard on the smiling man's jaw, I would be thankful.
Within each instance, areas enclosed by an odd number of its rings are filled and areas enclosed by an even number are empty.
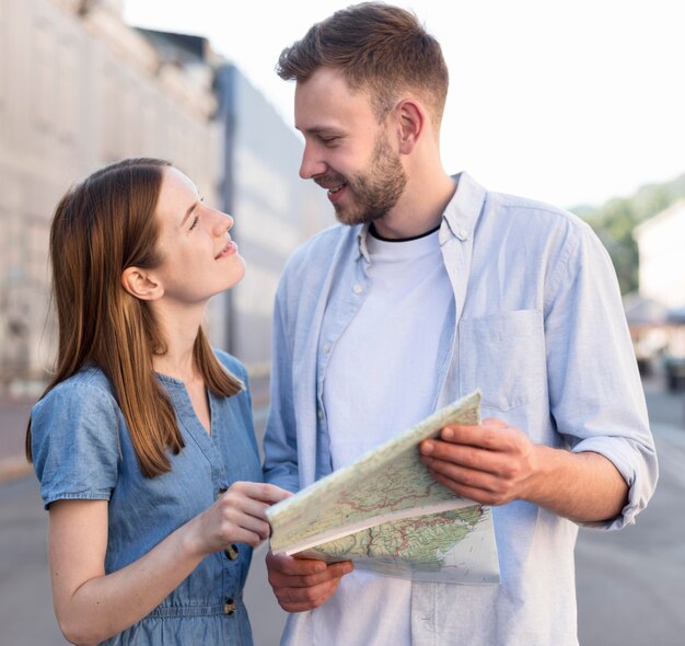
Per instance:
[[[364,224],[382,218],[396,204],[405,186],[407,176],[399,155],[395,154],[384,135],[380,135],[373,148],[369,169],[345,177],[347,188],[352,193],[353,204],[334,204],[336,218],[342,224]]]

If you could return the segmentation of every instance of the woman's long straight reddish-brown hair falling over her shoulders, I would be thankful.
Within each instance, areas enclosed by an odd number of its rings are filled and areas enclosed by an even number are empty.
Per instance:
[[[59,349],[42,399],[83,366],[97,366],[114,388],[148,477],[170,471],[169,450],[178,453],[184,441],[152,364],[153,355],[166,351],[165,339],[148,303],[121,286],[121,273],[161,262],[154,210],[170,165],[156,159],[126,159],[93,173],[62,197],[50,229]],[[242,382],[214,356],[202,327],[193,359],[213,393],[231,396],[242,390]],[[31,420],[26,457],[32,461]]]

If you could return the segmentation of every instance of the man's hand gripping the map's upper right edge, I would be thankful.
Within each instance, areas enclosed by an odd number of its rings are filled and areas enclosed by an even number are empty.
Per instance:
[[[421,461],[455,494],[483,505],[526,499],[537,472],[537,447],[501,419],[479,426],[446,426],[421,442]]]

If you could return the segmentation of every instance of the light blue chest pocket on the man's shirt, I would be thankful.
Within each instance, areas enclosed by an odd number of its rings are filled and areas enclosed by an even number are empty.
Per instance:
[[[483,391],[481,405],[511,411],[547,392],[541,310],[518,310],[458,324],[460,389]]]

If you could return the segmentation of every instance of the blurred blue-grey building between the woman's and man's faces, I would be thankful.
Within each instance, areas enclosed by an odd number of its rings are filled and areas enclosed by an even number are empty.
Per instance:
[[[235,218],[231,235],[247,272],[236,287],[214,297],[210,332],[214,343],[253,369],[265,369],[280,272],[298,244],[333,223],[330,205],[321,188],[298,175],[298,137],[234,65],[198,36],[142,33],[164,57],[212,69],[221,169],[217,204]]]

